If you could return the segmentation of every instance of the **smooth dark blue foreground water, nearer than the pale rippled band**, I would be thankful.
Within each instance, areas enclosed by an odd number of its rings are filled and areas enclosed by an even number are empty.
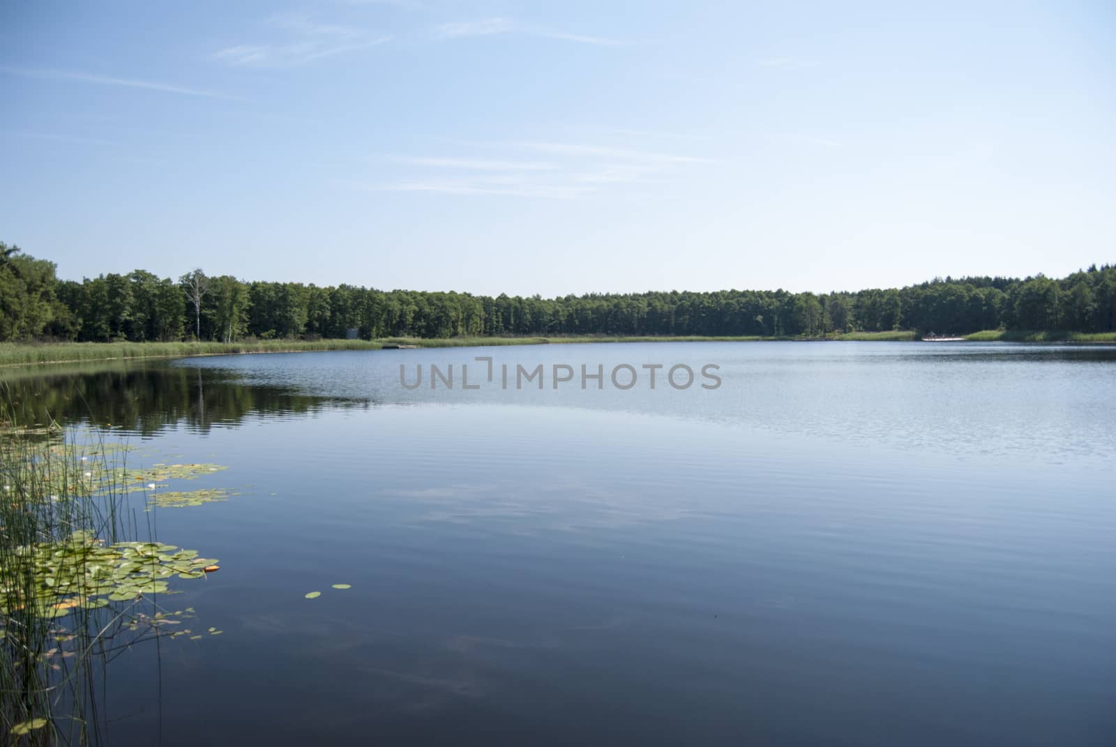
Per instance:
[[[622,744],[1027,744],[1109,714],[1110,468],[1068,491],[1041,465],[494,405],[327,411],[204,447],[257,487],[162,514],[221,547],[195,604],[227,631],[164,687],[290,711],[273,744],[449,743],[470,715],[491,744],[606,722]]]

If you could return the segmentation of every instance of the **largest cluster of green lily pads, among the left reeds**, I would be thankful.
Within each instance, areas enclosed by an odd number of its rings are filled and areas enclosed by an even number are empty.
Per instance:
[[[108,545],[81,531],[64,542],[19,547],[10,563],[3,581],[31,574],[35,593],[21,598],[22,584],[0,587],[0,612],[8,616],[33,604],[33,612],[45,617],[61,617],[78,606],[97,609],[165,594],[167,578],[202,578],[219,567],[215,559],[199,557],[198,550],[154,542]]]

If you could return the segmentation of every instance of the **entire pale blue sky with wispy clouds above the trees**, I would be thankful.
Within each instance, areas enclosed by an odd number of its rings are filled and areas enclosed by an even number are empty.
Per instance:
[[[1116,6],[0,2],[61,277],[543,296],[1116,260]]]

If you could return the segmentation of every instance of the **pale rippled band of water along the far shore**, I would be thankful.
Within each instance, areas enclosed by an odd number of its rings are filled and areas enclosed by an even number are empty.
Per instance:
[[[483,371],[475,355],[543,364],[546,389],[415,391],[400,385],[422,363],[445,370],[462,363]],[[263,358],[263,360],[259,360]],[[603,364],[606,390],[583,391],[577,380],[551,389],[555,364]],[[627,363],[721,366],[720,389],[695,383],[675,391],[642,382],[617,391],[608,371]],[[1061,460],[1116,449],[1116,348],[908,343],[689,343],[434,348],[372,353],[195,358],[182,366],[218,368],[243,381],[294,387],[319,396],[376,403],[510,404],[577,408],[715,421],[744,428],[859,443],[863,448],[920,450],[939,459]],[[458,374],[460,382],[460,373]],[[641,375],[643,373],[641,372]],[[660,372],[662,377],[663,372]],[[699,381],[700,377],[699,377]],[[549,414],[539,413],[546,421]]]

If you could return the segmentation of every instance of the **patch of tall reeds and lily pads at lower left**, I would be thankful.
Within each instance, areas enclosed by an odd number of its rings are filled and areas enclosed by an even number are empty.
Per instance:
[[[133,475],[126,449],[19,428],[27,419],[13,410],[0,410],[0,741],[107,744],[97,705],[107,665],[146,641],[201,638],[192,607],[163,605],[173,586],[217,569],[158,542],[132,495],[215,466]]]

